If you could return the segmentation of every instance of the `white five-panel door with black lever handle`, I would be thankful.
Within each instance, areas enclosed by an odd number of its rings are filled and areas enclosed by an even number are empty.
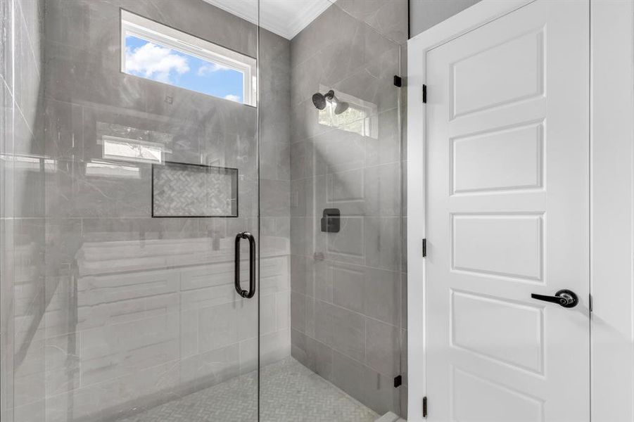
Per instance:
[[[428,51],[429,420],[589,420],[589,4]],[[531,298],[569,289],[576,307]]]

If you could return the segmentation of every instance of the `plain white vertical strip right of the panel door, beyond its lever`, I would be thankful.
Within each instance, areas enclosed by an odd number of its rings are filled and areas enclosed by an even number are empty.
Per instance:
[[[592,421],[634,420],[634,2],[591,1]]]

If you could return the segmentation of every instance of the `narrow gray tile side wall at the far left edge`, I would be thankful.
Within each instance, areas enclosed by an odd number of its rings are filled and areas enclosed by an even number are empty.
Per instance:
[[[42,174],[23,169],[44,164],[15,160],[37,143],[37,109],[42,90],[42,5],[34,0],[0,4],[0,418],[18,420],[17,406],[42,392],[44,355],[33,330],[42,316],[46,230]],[[26,187],[30,186],[27,190]],[[28,219],[18,218],[25,214]],[[26,387],[22,380],[28,380]],[[14,411],[15,409],[15,411]],[[32,413],[42,401],[32,402]]]

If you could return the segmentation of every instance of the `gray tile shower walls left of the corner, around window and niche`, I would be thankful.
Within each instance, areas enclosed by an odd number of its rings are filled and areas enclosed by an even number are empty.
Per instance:
[[[256,56],[251,23],[199,0],[0,4],[2,421],[113,418],[253,371],[239,231],[261,246],[262,362],[288,356],[290,42],[260,32],[260,89],[276,96],[259,164],[256,108],[120,71],[120,8]],[[239,217],[151,218],[150,165],[104,159],[108,135],[239,168]]]

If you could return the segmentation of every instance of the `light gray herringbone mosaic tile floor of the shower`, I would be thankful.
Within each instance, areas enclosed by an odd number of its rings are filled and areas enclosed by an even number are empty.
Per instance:
[[[120,422],[256,421],[255,373],[205,388]],[[262,369],[262,422],[374,422],[379,417],[293,358]]]

